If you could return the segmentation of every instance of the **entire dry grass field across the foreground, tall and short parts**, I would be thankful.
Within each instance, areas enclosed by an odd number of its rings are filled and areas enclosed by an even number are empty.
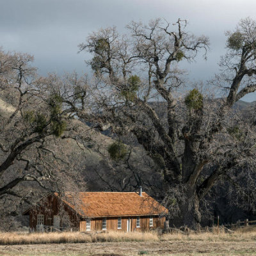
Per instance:
[[[0,234],[0,255],[135,256],[256,255],[256,229],[232,234],[164,234],[109,232],[101,234]],[[30,244],[28,244],[30,243]],[[3,245],[5,244],[5,245]]]

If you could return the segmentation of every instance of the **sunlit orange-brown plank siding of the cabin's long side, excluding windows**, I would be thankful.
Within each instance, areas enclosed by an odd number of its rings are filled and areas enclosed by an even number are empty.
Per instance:
[[[127,231],[127,220],[131,220],[131,231],[149,231],[156,228],[164,228],[165,217],[159,218],[158,216],[153,216],[153,227],[149,227],[150,216],[140,216],[140,228],[136,227],[136,216],[122,217],[122,228],[117,228],[118,217],[107,218],[107,229],[114,231]],[[92,218],[91,219],[91,231],[102,230],[102,218]],[[80,231],[86,231],[86,220],[80,221]]]

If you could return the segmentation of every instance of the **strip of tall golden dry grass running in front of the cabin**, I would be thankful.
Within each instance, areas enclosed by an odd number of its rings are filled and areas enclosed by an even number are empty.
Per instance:
[[[97,243],[97,242],[125,242],[125,241],[256,241],[256,227],[240,228],[231,234],[220,230],[213,232],[190,232],[189,234],[163,234],[156,232],[52,232],[52,233],[28,233],[28,232],[3,232],[0,233],[0,245],[13,244],[49,244],[49,243]]]

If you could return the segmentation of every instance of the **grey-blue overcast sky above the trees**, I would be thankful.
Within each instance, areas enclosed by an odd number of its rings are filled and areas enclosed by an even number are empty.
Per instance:
[[[119,31],[131,20],[148,22],[157,17],[170,22],[187,19],[195,35],[207,35],[211,52],[186,65],[192,80],[205,81],[218,72],[225,53],[225,31],[240,19],[256,19],[254,0],[0,0],[0,45],[5,51],[28,52],[35,66],[47,72],[76,70],[88,73],[85,54],[77,45],[93,30],[115,25]],[[251,93],[244,100],[256,100]]]

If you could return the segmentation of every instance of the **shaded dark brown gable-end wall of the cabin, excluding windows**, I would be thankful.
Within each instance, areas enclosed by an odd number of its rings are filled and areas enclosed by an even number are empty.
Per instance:
[[[63,204],[56,196],[50,195],[45,200],[42,200],[40,204],[36,205],[29,211],[29,227],[35,228],[37,225],[38,214],[44,215],[44,225],[53,226],[54,215],[65,216],[68,215],[70,219],[70,227],[79,229],[79,216],[76,212],[66,204]],[[63,226],[60,218],[60,227]]]

